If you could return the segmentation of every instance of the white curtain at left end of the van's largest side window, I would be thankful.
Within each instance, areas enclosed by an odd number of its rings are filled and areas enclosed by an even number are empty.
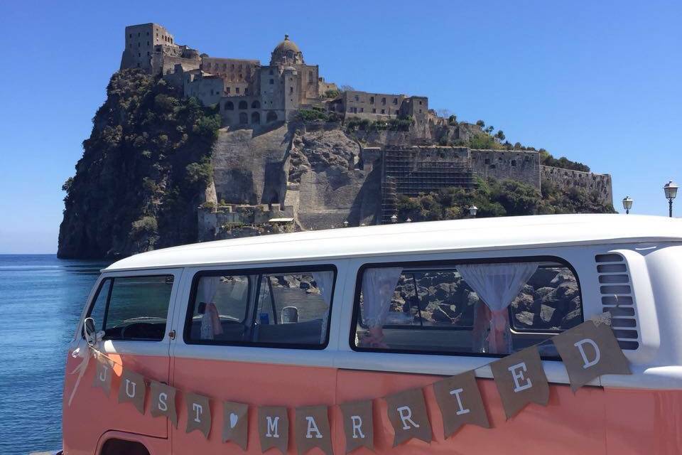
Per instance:
[[[384,325],[402,271],[401,267],[365,270],[362,277],[362,305],[364,323],[369,328]]]

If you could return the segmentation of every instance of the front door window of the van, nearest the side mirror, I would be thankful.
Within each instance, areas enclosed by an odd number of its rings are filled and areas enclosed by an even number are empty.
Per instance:
[[[104,339],[161,341],[172,288],[173,275],[108,278],[89,316],[104,330]]]

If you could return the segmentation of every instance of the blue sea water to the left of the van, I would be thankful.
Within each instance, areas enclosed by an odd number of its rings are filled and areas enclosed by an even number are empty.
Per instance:
[[[0,255],[0,454],[61,448],[67,343],[108,264]]]

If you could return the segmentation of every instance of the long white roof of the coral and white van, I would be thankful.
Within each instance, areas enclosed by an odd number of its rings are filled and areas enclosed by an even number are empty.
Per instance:
[[[140,253],[104,270],[661,241],[682,241],[682,220],[645,215],[475,218],[216,240]]]

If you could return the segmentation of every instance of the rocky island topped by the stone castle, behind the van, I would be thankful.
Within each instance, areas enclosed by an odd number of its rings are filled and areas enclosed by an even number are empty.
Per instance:
[[[58,256],[394,215],[463,218],[470,205],[478,216],[613,211],[609,175],[505,139],[435,112],[426,97],[327,82],[288,36],[264,65],[178,45],[156,23],[129,26],[121,69],[63,186]]]

